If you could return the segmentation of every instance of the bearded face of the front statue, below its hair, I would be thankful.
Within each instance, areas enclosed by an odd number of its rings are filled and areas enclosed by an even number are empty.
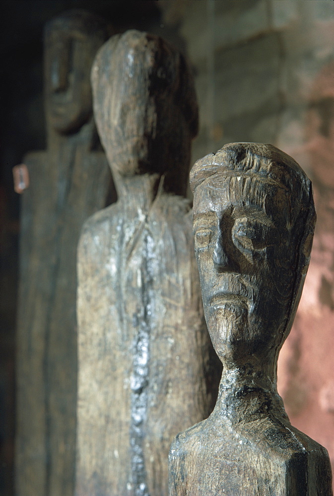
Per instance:
[[[195,252],[205,319],[223,363],[266,359],[293,294],[289,205],[255,178],[209,178],[194,194]]]

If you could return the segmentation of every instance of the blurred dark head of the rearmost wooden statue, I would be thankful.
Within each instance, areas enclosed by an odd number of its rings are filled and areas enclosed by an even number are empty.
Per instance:
[[[107,25],[80,9],[64,12],[45,26],[45,98],[48,122],[73,133],[92,116],[90,69],[108,37]]]

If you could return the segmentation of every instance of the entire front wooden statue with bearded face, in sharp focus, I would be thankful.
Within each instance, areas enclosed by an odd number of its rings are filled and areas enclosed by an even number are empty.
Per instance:
[[[170,496],[330,496],[326,449],[291,426],[276,390],[309,263],[311,183],[277,148],[232,143],[196,162],[191,187],[205,319],[223,374],[212,414],[172,443]]]

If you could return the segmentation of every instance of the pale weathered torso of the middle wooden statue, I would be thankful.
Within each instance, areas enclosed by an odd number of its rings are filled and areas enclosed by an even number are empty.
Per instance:
[[[195,263],[180,197],[161,195],[148,212],[118,202],[86,223],[77,306],[82,492],[132,495],[141,484],[167,494],[170,442],[209,413]]]

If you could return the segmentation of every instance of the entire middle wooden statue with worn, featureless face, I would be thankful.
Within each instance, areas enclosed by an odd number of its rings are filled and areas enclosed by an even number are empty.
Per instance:
[[[163,496],[173,437],[212,409],[184,198],[198,106],[183,56],[138,31],[100,49],[92,87],[118,201],[78,247],[76,495]]]

